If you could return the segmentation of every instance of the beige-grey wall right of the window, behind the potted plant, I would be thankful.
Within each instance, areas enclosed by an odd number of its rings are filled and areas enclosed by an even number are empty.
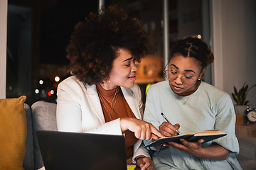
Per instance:
[[[255,6],[255,0],[211,0],[213,84],[230,95],[233,86],[256,84]],[[256,107],[255,94],[256,88],[247,99]]]

